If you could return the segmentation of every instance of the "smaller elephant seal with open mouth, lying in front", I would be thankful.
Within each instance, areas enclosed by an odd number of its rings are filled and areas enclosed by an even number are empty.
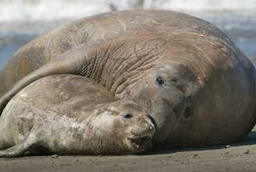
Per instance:
[[[123,155],[152,148],[151,117],[86,77],[43,77],[22,89],[0,118],[0,157]]]

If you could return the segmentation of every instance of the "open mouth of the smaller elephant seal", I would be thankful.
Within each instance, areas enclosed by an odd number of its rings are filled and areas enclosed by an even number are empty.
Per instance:
[[[152,137],[128,138],[130,146],[137,151],[147,151],[152,148]]]

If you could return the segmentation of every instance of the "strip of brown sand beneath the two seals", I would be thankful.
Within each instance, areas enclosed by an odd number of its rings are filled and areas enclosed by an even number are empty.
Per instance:
[[[255,128],[254,128],[255,131]],[[140,156],[48,156],[0,158],[1,172],[81,171],[256,171],[256,132],[240,143],[218,147],[153,151]]]

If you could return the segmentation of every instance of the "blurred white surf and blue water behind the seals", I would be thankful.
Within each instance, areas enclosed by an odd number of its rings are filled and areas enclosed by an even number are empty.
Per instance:
[[[78,18],[122,9],[170,9],[196,15],[256,62],[256,0],[0,0],[0,69],[34,37]]]

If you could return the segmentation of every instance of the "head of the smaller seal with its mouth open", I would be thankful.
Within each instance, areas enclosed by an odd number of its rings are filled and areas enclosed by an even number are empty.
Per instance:
[[[120,100],[98,105],[95,113],[90,121],[95,135],[109,142],[105,144],[115,144],[116,147],[106,146],[111,148],[103,150],[109,151],[106,154],[136,154],[152,149],[155,132],[152,118],[133,101]]]

